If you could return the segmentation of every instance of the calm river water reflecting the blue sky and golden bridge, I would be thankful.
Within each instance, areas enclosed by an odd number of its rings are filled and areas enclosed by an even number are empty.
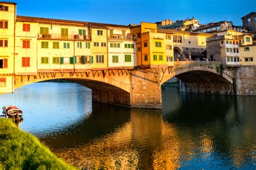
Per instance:
[[[256,168],[256,97],[162,87],[163,110],[91,101],[76,83],[34,83],[0,96],[20,128],[80,168]]]

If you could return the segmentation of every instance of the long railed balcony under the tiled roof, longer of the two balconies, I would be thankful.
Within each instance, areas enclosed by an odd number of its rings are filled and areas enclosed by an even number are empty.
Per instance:
[[[73,41],[80,41],[80,40],[91,40],[91,36],[80,36],[79,34],[69,34],[69,35],[62,35],[62,34],[38,34],[38,39],[53,39],[53,40],[73,40]]]

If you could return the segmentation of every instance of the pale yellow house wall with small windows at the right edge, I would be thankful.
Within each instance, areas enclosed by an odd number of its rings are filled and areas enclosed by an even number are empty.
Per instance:
[[[250,51],[245,51],[245,47],[248,47]],[[239,47],[239,59],[240,65],[252,66],[256,65],[256,45],[240,46]],[[253,58],[253,61],[245,61],[246,58]]]

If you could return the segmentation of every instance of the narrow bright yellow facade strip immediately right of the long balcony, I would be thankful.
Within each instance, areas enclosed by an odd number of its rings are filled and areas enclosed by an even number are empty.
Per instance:
[[[97,30],[102,30],[103,35],[98,36]],[[96,29],[92,28],[91,30],[92,41],[91,41],[91,56],[93,56],[92,68],[106,68],[107,67],[107,29]],[[99,42],[99,46],[93,46],[93,42]],[[106,43],[106,47],[101,46],[101,42]],[[104,63],[96,62],[96,55],[104,55]]]

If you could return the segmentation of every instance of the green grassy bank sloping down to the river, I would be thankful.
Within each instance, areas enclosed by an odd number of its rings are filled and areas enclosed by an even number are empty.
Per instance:
[[[75,169],[8,119],[0,119],[0,169]]]

